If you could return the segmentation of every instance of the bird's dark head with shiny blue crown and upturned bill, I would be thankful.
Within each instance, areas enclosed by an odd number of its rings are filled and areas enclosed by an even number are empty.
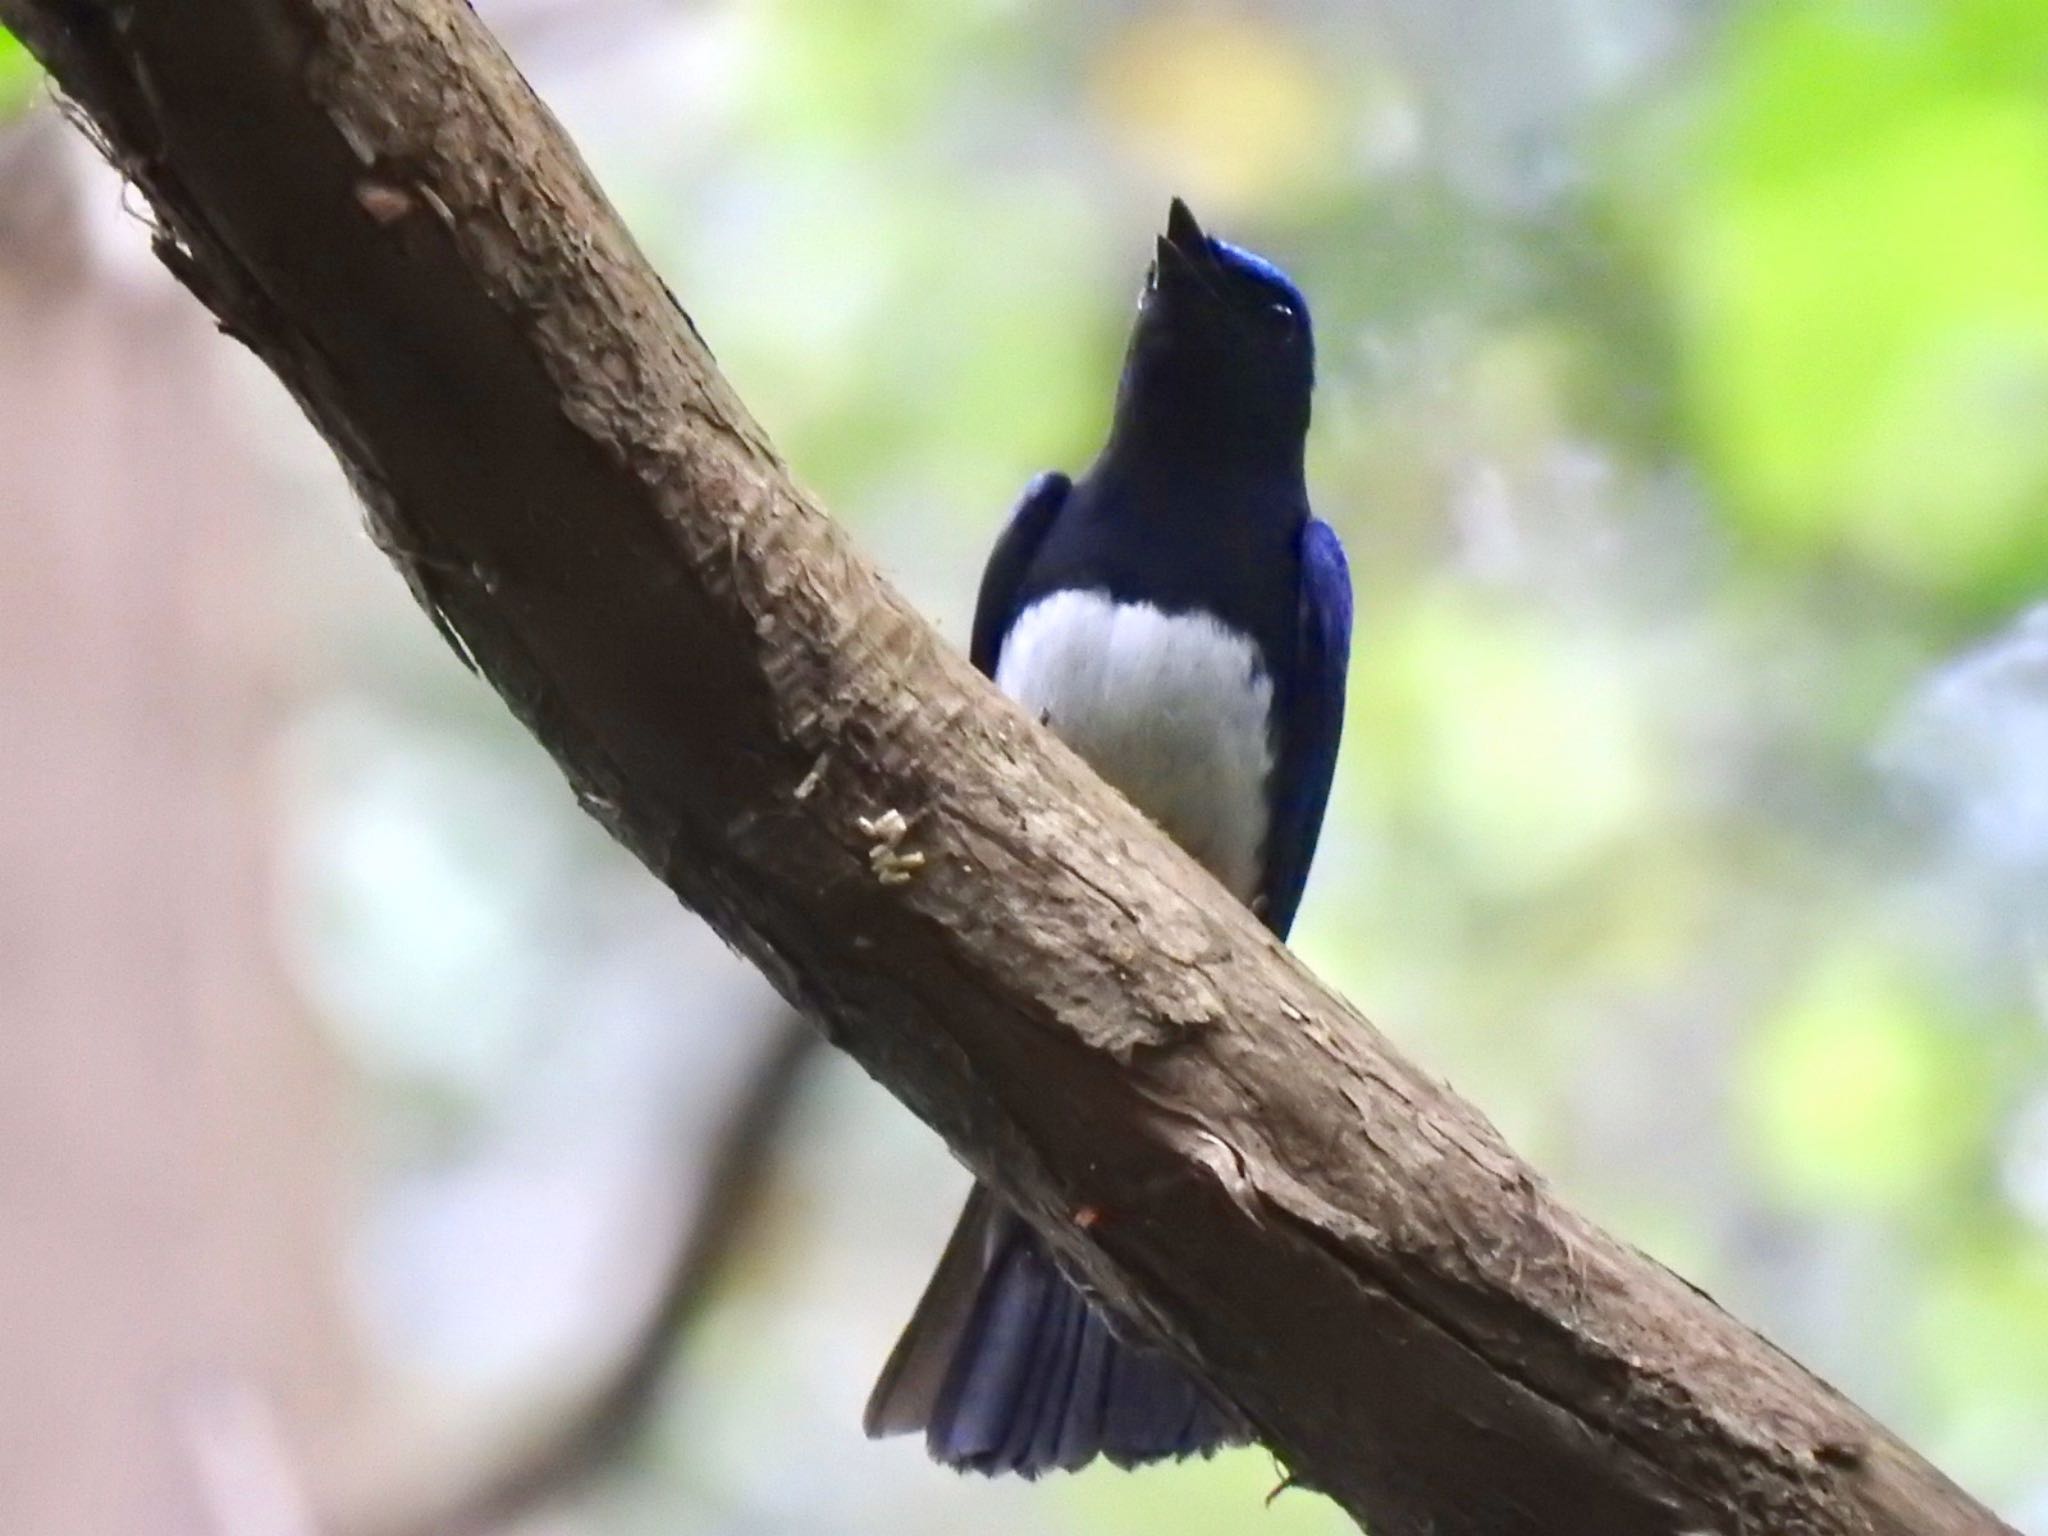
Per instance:
[[[1300,289],[1264,256],[1202,233],[1176,197],[1139,295],[1118,428],[1188,451],[1298,455],[1313,387]]]

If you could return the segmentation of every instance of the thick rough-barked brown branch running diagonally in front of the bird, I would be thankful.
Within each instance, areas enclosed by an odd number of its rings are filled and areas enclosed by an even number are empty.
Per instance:
[[[1563,1208],[952,655],[461,0],[0,16],[582,803],[1300,1483],[1380,1536],[2005,1530]]]

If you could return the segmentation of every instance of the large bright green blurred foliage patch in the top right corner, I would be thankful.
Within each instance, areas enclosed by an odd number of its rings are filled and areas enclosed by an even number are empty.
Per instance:
[[[1755,6],[1667,246],[1737,530],[1972,614],[2048,561],[2048,6]]]

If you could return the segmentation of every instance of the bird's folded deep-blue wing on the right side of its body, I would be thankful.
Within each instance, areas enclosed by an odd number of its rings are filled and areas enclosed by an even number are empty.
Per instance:
[[[1335,528],[1309,518],[1300,532],[1300,618],[1288,688],[1276,700],[1278,762],[1268,799],[1266,926],[1286,938],[1309,885],[1309,862],[1337,772],[1343,733],[1343,674],[1352,659],[1352,569]]]

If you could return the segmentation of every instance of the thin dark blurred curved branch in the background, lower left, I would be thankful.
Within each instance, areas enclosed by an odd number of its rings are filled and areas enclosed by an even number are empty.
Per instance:
[[[725,1102],[659,1296],[616,1362],[479,1483],[438,1489],[434,1509],[379,1524],[377,1536],[485,1536],[575,1493],[631,1448],[662,1401],[684,1335],[748,1233],[805,1067],[823,1047],[823,1036],[786,1008],[776,1010],[766,1036],[750,1077]]]

